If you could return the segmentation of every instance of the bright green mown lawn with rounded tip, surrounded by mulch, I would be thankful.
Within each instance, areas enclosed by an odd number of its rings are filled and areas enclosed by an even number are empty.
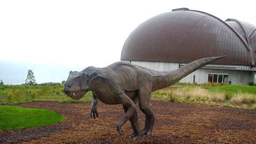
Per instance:
[[[65,116],[47,109],[0,105],[1,130],[46,126],[65,119]]]

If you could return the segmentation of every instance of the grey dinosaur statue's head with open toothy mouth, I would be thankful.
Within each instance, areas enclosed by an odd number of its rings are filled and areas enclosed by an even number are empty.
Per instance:
[[[70,71],[63,92],[72,99],[79,100],[89,89],[87,79],[88,75],[84,72]]]

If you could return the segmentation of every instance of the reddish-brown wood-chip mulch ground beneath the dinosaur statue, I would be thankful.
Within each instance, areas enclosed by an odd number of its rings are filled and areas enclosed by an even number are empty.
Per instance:
[[[116,125],[121,105],[98,103],[99,118],[89,116],[90,103],[32,102],[68,117],[44,127],[0,131],[0,143],[256,143],[256,110],[190,105],[152,100],[156,123],[149,139],[120,136]],[[141,129],[144,115],[138,109]],[[122,127],[132,132],[130,122]]]

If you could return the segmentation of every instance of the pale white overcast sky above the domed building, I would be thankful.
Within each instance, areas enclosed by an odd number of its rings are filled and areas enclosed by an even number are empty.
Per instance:
[[[105,67],[141,23],[189,8],[256,25],[256,1],[0,1],[0,61]]]

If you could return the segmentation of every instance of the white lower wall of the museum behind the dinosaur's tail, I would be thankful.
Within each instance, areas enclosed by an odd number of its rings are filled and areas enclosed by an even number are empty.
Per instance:
[[[149,69],[157,70],[157,71],[171,71],[179,68],[178,63],[145,62],[145,61],[131,61],[131,63],[140,65]],[[193,73],[189,74],[188,76],[184,77],[183,79],[181,79],[180,82],[193,83],[193,75],[195,75],[196,83],[208,82],[209,73],[228,74],[228,81],[231,81],[231,84],[248,84],[249,82],[252,81],[251,72],[238,71],[238,70],[200,68],[194,71]],[[255,77],[256,74],[254,74],[253,76]]]

